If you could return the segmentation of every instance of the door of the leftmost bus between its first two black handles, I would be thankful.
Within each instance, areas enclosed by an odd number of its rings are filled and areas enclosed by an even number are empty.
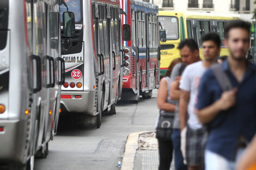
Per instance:
[[[35,55],[39,55],[41,58],[41,75],[42,75],[42,90],[39,93],[39,101],[38,103],[38,115],[36,116],[36,123],[35,123],[35,135],[38,139],[36,143],[35,149],[40,149],[42,143],[45,141],[45,121],[49,110],[49,103],[50,103],[50,65],[51,60],[47,56],[46,52],[46,33],[47,33],[47,26],[46,26],[46,17],[47,17],[47,6],[48,4],[41,1],[34,1],[34,8],[35,11],[33,12],[33,42],[35,46],[33,46],[33,53]]]

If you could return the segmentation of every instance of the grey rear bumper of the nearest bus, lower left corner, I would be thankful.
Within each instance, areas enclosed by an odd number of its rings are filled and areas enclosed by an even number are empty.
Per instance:
[[[0,162],[26,162],[25,147],[28,146],[26,146],[27,126],[25,122],[0,120]]]

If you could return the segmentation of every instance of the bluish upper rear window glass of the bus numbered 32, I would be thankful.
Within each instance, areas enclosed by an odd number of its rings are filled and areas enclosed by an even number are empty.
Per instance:
[[[81,21],[81,0],[64,0],[69,7],[69,11],[74,12],[75,21]],[[62,14],[66,11],[64,4],[60,5],[60,21],[62,22]]]

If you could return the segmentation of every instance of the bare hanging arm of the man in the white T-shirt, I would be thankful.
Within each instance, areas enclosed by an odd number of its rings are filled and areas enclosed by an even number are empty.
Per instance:
[[[180,116],[180,130],[182,131],[186,127],[187,121],[187,105],[190,100],[190,92],[181,90],[179,116]]]

